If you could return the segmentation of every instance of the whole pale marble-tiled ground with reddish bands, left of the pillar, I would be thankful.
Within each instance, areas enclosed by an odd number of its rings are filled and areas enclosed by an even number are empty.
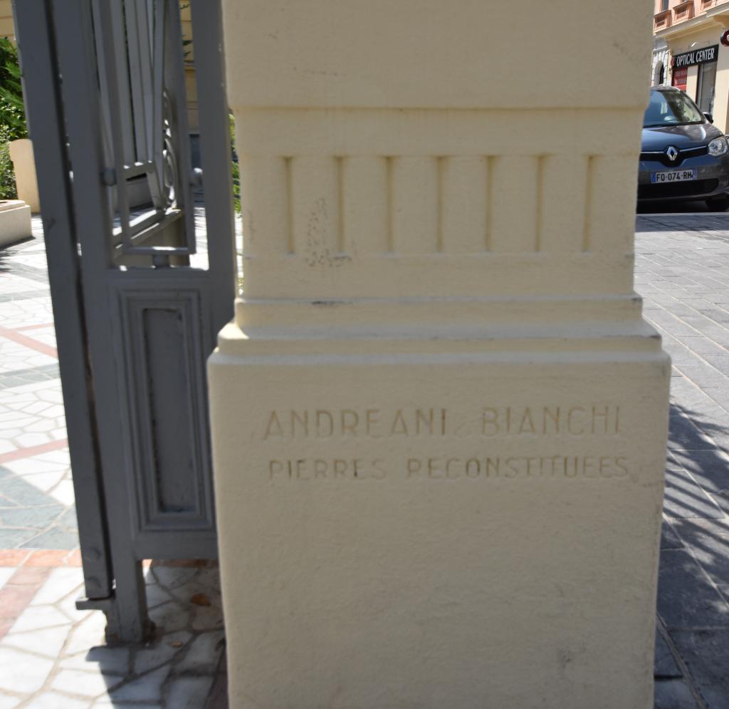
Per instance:
[[[147,565],[147,646],[104,646],[104,615],[75,608],[83,576],[37,217],[34,233],[0,251],[0,709],[201,709],[224,676],[214,565]]]

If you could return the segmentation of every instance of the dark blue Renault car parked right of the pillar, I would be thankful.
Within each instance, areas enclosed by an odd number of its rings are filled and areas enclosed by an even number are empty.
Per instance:
[[[729,208],[729,143],[682,90],[654,86],[643,118],[638,201],[686,200]]]

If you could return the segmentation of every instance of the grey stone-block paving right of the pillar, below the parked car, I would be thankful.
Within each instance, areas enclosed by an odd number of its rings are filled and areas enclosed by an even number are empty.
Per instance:
[[[655,705],[729,708],[729,214],[641,214],[636,290],[673,359]]]

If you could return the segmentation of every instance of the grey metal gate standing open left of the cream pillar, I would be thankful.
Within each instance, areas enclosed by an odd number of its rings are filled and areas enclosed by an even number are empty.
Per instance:
[[[77,499],[79,607],[105,611],[109,638],[125,641],[149,632],[142,559],[217,556],[205,365],[236,290],[230,133],[219,0],[190,9],[201,169],[190,157],[179,0],[15,3]]]

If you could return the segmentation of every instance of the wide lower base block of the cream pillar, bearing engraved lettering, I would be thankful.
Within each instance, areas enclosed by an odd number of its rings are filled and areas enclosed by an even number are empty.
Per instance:
[[[670,365],[647,328],[230,325],[209,373],[231,708],[652,708]]]

